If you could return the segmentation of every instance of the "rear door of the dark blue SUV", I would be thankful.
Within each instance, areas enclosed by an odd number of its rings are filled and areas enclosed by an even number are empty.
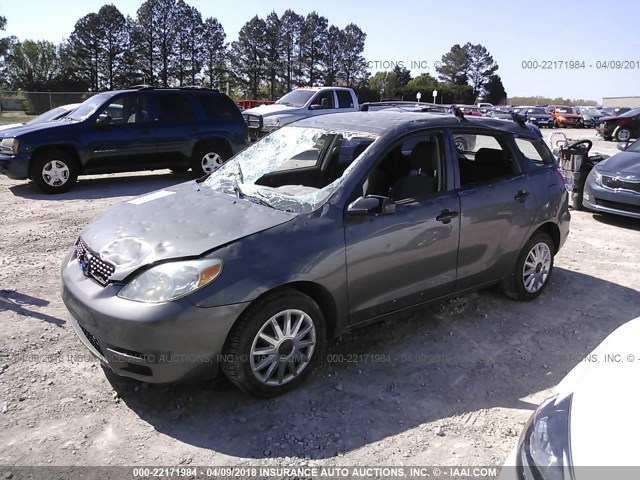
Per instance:
[[[167,166],[188,165],[199,128],[194,106],[179,91],[157,91],[153,101],[159,161]]]

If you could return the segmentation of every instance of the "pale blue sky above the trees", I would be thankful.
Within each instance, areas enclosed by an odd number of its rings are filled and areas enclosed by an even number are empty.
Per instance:
[[[254,15],[264,18],[271,11],[281,15],[288,8],[299,14],[315,10],[341,28],[356,23],[367,34],[364,56],[372,73],[401,64],[413,76],[435,75],[434,62],[452,45],[471,42],[484,45],[493,55],[509,96],[597,102],[603,97],[640,96],[640,2],[636,0],[186,1],[203,17],[216,17],[228,41],[235,40]],[[142,0],[0,0],[0,15],[7,18],[6,31],[0,35],[58,43],[70,35],[79,18],[106,3],[135,17]],[[569,61],[584,68],[568,68]],[[625,61],[634,68],[620,68]],[[423,94],[423,99],[430,95]]]

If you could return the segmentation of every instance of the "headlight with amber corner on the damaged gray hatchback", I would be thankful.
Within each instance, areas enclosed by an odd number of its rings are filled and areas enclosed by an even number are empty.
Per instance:
[[[217,258],[163,263],[134,277],[118,296],[144,303],[170,302],[208,285],[220,272],[222,260]]]

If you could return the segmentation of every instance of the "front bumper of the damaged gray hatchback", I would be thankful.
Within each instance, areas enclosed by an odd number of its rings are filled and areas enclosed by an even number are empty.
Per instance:
[[[85,277],[75,256],[63,262],[62,299],[82,343],[114,373],[149,383],[215,375],[227,334],[248,305],[146,304],[117,297],[120,289]]]

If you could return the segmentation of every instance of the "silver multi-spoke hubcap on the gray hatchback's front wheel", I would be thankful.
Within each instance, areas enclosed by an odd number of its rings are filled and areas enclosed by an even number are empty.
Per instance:
[[[284,385],[309,365],[315,346],[311,317],[302,310],[284,310],[267,320],[254,338],[251,371],[265,385]]]

